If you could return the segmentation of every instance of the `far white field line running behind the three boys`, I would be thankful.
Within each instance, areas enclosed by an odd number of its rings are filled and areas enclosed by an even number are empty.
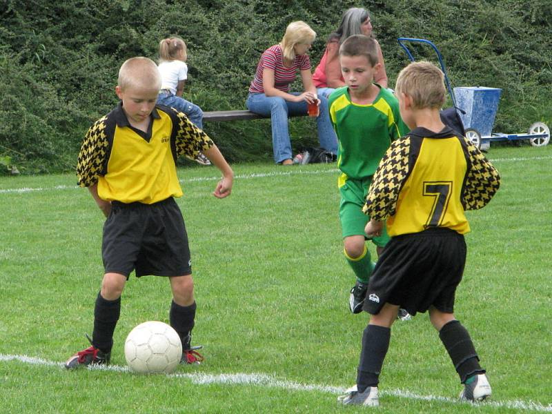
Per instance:
[[[550,157],[517,157],[517,158],[495,158],[489,159],[491,162],[518,162],[518,161],[538,161],[541,159],[552,159]],[[339,170],[337,168],[331,168],[329,170],[299,170],[299,169],[288,169],[286,171],[268,171],[268,172],[252,172],[250,174],[239,174],[236,175],[235,179],[257,179],[257,178],[268,178],[268,177],[279,177],[279,176],[288,176],[288,175],[313,175],[313,174],[337,174]],[[215,177],[195,177],[195,178],[186,178],[181,179],[180,182],[190,183],[198,181],[217,181],[220,179],[220,176]],[[21,188],[0,188],[0,194],[24,194],[24,193],[33,193],[37,191],[52,191],[52,190],[74,190],[79,188],[78,186],[52,186],[52,187],[21,187]]]

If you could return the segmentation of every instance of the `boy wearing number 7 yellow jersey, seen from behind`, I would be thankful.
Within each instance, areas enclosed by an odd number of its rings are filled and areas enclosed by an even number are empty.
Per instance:
[[[364,311],[371,313],[362,337],[357,384],[342,404],[376,406],[377,384],[399,307],[429,311],[431,324],[460,376],[462,400],[480,401],[491,386],[466,328],[453,313],[466,261],[464,210],[485,206],[500,186],[497,170],[464,137],[444,126],[444,75],[428,62],[404,68],[395,86],[402,119],[411,132],[394,141],[374,176],[364,213],[366,235],[391,240],[375,266]]]

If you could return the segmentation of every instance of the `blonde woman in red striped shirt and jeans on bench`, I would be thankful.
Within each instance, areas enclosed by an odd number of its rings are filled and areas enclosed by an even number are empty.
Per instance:
[[[318,102],[316,119],[322,148],[337,154],[337,137],[328,112],[328,99],[317,97],[307,51],[316,33],[303,21],[293,21],[286,28],[282,42],[266,49],[257,65],[249,88],[246,106],[251,112],[270,115],[274,161],[293,164],[288,130],[288,114],[307,114],[307,103]],[[301,74],[304,92],[290,92],[289,85]]]

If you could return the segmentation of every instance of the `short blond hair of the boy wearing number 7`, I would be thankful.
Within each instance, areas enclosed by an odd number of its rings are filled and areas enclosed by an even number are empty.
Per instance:
[[[443,72],[428,61],[410,63],[399,73],[395,92],[411,97],[413,108],[440,109],[446,100]]]

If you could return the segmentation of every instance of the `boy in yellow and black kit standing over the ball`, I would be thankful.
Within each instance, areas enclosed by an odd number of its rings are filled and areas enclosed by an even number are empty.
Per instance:
[[[233,171],[217,146],[181,112],[156,106],[161,75],[154,61],[134,57],[119,70],[115,92],[121,103],[90,127],[77,164],[79,186],[88,187],[107,217],[101,253],[105,273],[94,310],[89,348],[66,368],[108,364],[121,293],[136,276],[168,277],[170,325],[182,341],[183,363],[203,359],[190,346],[195,299],[188,237],[174,197],[181,197],[176,159],[203,152],[222,172],[213,195],[230,195]],[[88,336],[88,335],[87,335]]]

